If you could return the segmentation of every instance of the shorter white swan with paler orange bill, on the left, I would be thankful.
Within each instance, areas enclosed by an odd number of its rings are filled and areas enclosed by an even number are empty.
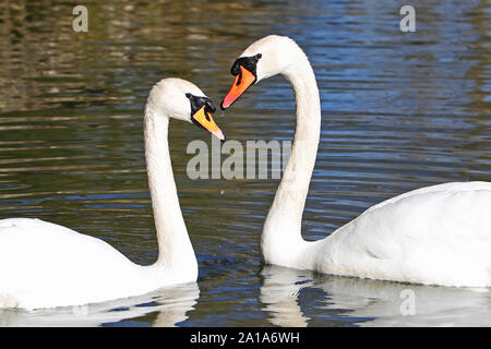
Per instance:
[[[0,220],[0,308],[55,308],[137,296],[194,282],[197,262],[185,229],[168,147],[169,119],[194,122],[220,140],[216,108],[195,85],[165,79],[151,91],[144,136],[158,258],[132,263],[103,240],[29,218]]]

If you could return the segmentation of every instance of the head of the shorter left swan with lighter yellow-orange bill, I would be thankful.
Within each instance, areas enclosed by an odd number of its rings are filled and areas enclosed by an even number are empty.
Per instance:
[[[216,111],[213,100],[189,81],[177,77],[161,80],[152,88],[147,108],[171,119],[194,123],[225,141],[212,117]]]

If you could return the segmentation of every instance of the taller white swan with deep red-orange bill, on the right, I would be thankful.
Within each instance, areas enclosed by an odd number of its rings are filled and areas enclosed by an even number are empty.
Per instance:
[[[491,183],[446,183],[378,204],[330,237],[304,241],[301,218],[321,130],[315,76],[297,44],[267,36],[235,62],[221,108],[249,86],[283,74],[297,101],[291,156],[261,238],[264,262],[363,278],[442,286],[491,286]]]

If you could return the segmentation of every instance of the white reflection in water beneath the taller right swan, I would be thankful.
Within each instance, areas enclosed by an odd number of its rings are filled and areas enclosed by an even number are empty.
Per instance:
[[[260,290],[262,310],[277,326],[491,326],[489,289],[466,289],[349,278],[265,266]],[[302,306],[314,291],[319,302]],[[414,294],[414,315],[403,315],[407,291]],[[323,293],[324,297],[320,297]],[[309,301],[307,304],[311,304]],[[309,314],[325,322],[311,322]],[[321,315],[320,315],[321,314]]]

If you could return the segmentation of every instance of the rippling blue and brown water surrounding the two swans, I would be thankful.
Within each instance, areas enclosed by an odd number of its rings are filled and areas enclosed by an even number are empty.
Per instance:
[[[321,91],[320,152],[303,236],[320,239],[403,192],[491,176],[491,10],[487,0],[0,1],[0,218],[37,217],[151,264],[156,238],[142,111],[152,85],[180,76],[219,103],[230,64],[268,34],[296,39]],[[295,100],[262,82],[225,117],[229,140],[292,140]],[[191,180],[197,128],[171,123],[195,285],[88,309],[0,312],[0,325],[488,325],[488,290],[409,286],[263,266],[259,238],[277,180]],[[416,296],[404,316],[402,291]]]

